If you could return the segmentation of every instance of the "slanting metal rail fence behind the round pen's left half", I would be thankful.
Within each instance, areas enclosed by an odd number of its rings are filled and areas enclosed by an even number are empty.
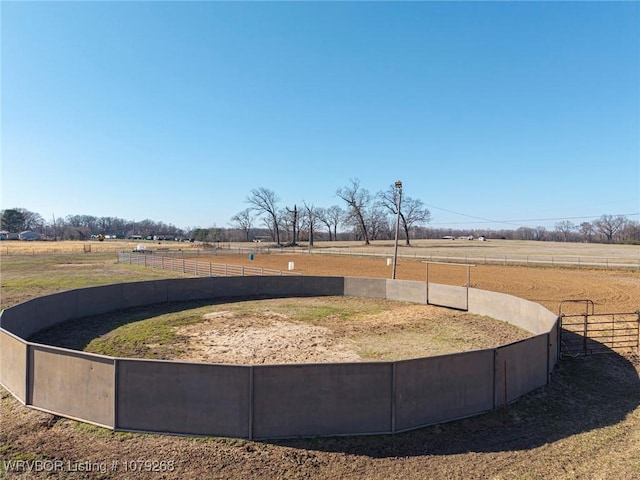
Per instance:
[[[141,265],[160,270],[171,270],[195,277],[252,277],[265,275],[302,275],[299,272],[275,270],[262,267],[248,267],[245,265],[228,265],[226,263],[211,263],[190,260],[187,258],[173,258],[150,254],[124,253],[118,254],[118,263]]]

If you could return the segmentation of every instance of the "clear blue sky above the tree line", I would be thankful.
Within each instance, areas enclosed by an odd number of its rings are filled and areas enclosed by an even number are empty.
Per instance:
[[[226,227],[253,188],[344,207],[357,178],[440,228],[640,219],[638,2],[0,14],[3,209]]]

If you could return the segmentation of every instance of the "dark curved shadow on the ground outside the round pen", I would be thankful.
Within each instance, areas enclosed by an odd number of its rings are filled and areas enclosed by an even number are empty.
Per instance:
[[[549,385],[491,413],[396,435],[271,443],[372,458],[529,450],[623,422],[640,406],[639,372],[637,356],[566,358]]]

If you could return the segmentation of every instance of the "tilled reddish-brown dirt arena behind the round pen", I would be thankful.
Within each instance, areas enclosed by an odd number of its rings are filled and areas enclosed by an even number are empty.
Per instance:
[[[245,255],[199,257],[212,263],[228,263],[288,271],[294,263],[294,273],[302,275],[358,276],[391,278],[386,258],[346,256],[256,254],[253,260]],[[566,268],[533,268],[500,265],[470,267],[471,286],[526,298],[558,312],[560,302],[570,299],[589,299],[597,312],[633,312],[640,308],[640,272]],[[426,278],[424,262],[398,260],[396,278],[422,280]],[[429,282],[466,285],[467,267],[429,265]],[[573,308],[572,308],[573,307]],[[565,305],[563,312],[575,311],[576,306]],[[580,305],[579,311],[584,311]]]

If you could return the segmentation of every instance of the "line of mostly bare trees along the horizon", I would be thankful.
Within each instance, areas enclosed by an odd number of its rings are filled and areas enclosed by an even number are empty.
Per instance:
[[[266,187],[254,188],[247,196],[249,207],[233,215],[229,228],[182,229],[149,219],[135,221],[118,217],[67,215],[45,220],[40,214],[24,208],[0,211],[1,230],[12,233],[33,231],[46,240],[89,240],[116,238],[150,238],[155,240],[192,239],[201,242],[265,241],[295,246],[314,240],[357,240],[369,244],[373,240],[398,238],[405,245],[413,239],[442,237],[485,237],[508,240],[537,240],[594,243],[640,244],[640,222],[625,215],[603,214],[591,222],[575,224],[562,220],[553,229],[519,227],[517,229],[464,229],[428,227],[431,212],[420,199],[402,194],[401,185],[371,194],[352,179],[340,187],[336,196],[344,206],[317,207],[307,201],[281,206],[280,198]],[[400,207],[398,209],[398,207]],[[397,224],[396,224],[397,222]]]

